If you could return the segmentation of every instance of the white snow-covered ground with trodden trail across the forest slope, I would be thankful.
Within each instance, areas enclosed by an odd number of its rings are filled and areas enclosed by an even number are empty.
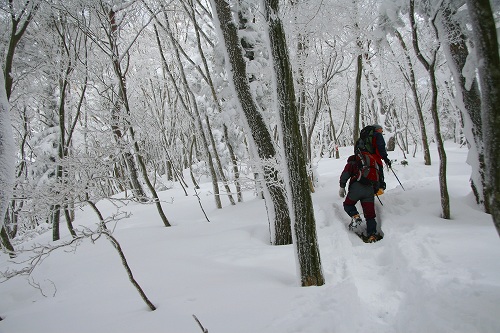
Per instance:
[[[161,192],[172,227],[154,205],[129,204],[116,224],[135,279],[157,307],[150,311],[105,237],[52,252],[29,277],[0,283],[1,333],[355,333],[500,332],[500,239],[474,203],[467,149],[447,145],[452,219],[441,219],[437,168],[420,154],[386,170],[388,189],[376,202],[385,237],[364,244],[347,231],[338,178],[341,159],[323,159],[313,194],[326,284],[300,287],[293,246],[269,245],[264,202],[214,208],[210,184]],[[99,203],[109,216],[116,207]],[[95,228],[90,209],[75,226]],[[69,241],[61,225],[64,241]],[[50,243],[47,232],[25,242]],[[20,246],[20,245],[18,245]],[[27,258],[21,254],[16,261]],[[19,268],[0,254],[0,271]]]

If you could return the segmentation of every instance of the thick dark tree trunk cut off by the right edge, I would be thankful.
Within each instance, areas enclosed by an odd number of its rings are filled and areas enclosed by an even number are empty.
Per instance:
[[[500,235],[500,60],[495,20],[488,0],[467,0],[481,87],[486,193]]]

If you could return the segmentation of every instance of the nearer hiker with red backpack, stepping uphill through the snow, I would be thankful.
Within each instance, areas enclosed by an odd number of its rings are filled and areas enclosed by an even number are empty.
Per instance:
[[[359,155],[362,155],[361,153]],[[375,191],[379,188],[376,180],[373,182],[363,181],[360,170],[363,167],[359,155],[351,155],[347,159],[347,164],[340,175],[339,195],[346,197],[346,185],[349,181],[347,197],[344,200],[344,210],[351,217],[349,229],[356,229],[363,221],[356,209],[356,204],[361,201],[363,214],[366,220],[366,240],[367,243],[376,242],[380,239],[377,235],[377,221],[375,220]],[[375,159],[373,159],[375,165]],[[375,172],[378,173],[377,171]],[[356,232],[357,233],[357,232]],[[357,233],[361,236],[359,233]]]

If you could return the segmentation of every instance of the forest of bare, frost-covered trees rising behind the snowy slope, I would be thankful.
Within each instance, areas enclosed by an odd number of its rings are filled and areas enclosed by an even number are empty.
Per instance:
[[[444,143],[467,146],[477,204],[500,233],[498,10],[488,0],[2,0],[2,249],[14,255],[12,239],[34,230],[77,237],[75,211],[122,192],[170,227],[158,191],[175,183],[188,195],[208,179],[221,209],[242,189],[262,195],[270,243],[297,242],[302,284],[321,285],[315,163],[374,123],[389,149],[439,163],[445,219]]]

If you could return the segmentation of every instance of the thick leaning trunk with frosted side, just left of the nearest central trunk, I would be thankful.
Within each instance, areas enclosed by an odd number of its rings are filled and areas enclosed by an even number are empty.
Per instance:
[[[257,148],[257,154],[263,164],[264,182],[269,191],[273,208],[273,212],[268,211],[270,222],[274,223],[273,243],[276,245],[291,244],[291,219],[283,181],[280,180],[279,172],[275,168],[276,150],[271,134],[250,91],[237,26],[232,19],[229,4],[225,0],[214,0],[213,8],[215,8],[219,18],[222,37],[227,50],[228,73],[232,74],[232,81],[240,108],[243,110],[248,128],[251,130],[253,142]]]

